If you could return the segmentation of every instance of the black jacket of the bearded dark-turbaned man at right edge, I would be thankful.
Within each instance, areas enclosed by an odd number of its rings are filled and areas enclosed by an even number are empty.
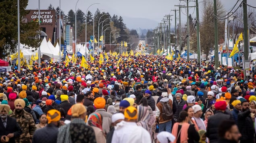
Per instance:
[[[240,138],[241,141],[248,140],[248,139],[252,139],[253,141],[253,138],[255,135],[254,124],[250,116],[250,113],[251,112],[249,109],[244,112],[238,113],[237,122],[238,122],[238,129],[242,135]]]

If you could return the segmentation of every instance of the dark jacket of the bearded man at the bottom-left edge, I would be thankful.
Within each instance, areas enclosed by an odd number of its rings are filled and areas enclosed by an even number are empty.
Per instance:
[[[15,143],[15,138],[19,137],[22,131],[16,119],[7,116],[6,128],[4,128],[2,119],[0,119],[0,138],[3,135],[8,135],[9,133],[14,133],[14,137],[10,138],[8,143]]]

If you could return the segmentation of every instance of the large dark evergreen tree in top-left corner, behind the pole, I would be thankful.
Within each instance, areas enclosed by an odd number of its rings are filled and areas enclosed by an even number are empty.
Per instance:
[[[22,17],[29,11],[25,10],[28,0],[20,0],[20,34],[21,43],[28,46],[38,47],[39,24],[37,22],[23,22]],[[15,52],[17,49],[17,1],[2,0],[0,1],[0,58]]]

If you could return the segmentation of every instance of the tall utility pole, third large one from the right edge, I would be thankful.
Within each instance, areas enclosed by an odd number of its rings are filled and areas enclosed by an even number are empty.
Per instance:
[[[196,0],[196,39],[197,39],[197,62],[201,64],[200,38],[199,38],[199,9]]]

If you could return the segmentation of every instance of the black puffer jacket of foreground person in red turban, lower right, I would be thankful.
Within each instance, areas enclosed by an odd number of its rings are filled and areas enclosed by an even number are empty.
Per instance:
[[[206,129],[206,137],[209,138],[210,143],[217,143],[219,140],[218,127],[223,120],[230,120],[231,116],[227,115],[221,111],[216,111],[216,113],[208,117],[208,124]]]

